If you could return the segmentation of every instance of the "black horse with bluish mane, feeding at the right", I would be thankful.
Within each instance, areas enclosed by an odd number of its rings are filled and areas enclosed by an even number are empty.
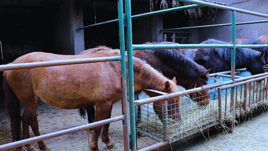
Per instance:
[[[209,39],[201,44],[228,44],[226,42]],[[227,71],[231,69],[231,48],[202,48],[197,49],[194,61],[211,68],[210,73]],[[246,68],[252,75],[264,73],[264,51],[258,52],[248,48],[235,49],[235,68]]]

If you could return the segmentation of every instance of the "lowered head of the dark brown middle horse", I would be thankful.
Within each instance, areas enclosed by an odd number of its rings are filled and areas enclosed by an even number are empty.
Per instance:
[[[208,70],[205,69],[199,73],[198,78],[197,78],[197,82],[196,82],[196,86],[195,86],[196,88],[202,87],[202,86],[208,84],[208,80],[210,78],[210,75],[209,75],[210,70],[211,69],[208,69]],[[210,103],[210,97],[209,97],[208,90],[192,94],[192,95],[190,95],[190,97],[192,99],[194,99],[195,102],[199,103],[199,106],[208,105]]]

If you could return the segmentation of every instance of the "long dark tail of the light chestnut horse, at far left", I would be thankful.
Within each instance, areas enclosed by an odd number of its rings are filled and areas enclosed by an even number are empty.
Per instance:
[[[11,122],[13,141],[19,141],[22,139],[21,103],[8,83],[7,74],[8,71],[4,71],[3,89],[6,98],[6,107]]]

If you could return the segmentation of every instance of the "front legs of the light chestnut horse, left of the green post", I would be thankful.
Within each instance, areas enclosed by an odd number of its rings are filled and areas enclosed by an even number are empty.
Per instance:
[[[109,115],[111,117],[111,111],[112,111],[111,103],[106,102],[106,103],[102,103],[102,104],[96,104],[95,122],[105,120],[105,119],[107,119],[107,117]],[[108,117],[108,118],[110,118],[110,117]],[[93,135],[92,135],[92,139],[91,139],[91,150],[92,151],[99,150],[98,140],[99,140],[99,136],[100,136],[102,127],[103,126],[94,127],[94,131],[93,131]],[[109,125],[108,125],[108,127],[109,127]],[[108,135],[108,130],[107,130],[107,132],[105,130],[104,133],[107,133],[107,135]],[[109,139],[109,137],[108,137],[108,139]]]

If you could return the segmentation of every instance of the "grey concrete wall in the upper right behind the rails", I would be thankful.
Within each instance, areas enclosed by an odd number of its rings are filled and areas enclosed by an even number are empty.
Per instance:
[[[218,0],[217,2],[225,3],[227,6],[248,10],[252,12],[268,14],[268,1],[265,0]],[[211,15],[213,18],[213,15]],[[212,25],[212,24],[223,24],[231,23],[232,13],[231,11],[225,11],[218,9],[214,20],[209,18],[207,12],[203,13],[203,16],[198,19],[198,25]],[[267,20],[267,18],[251,16],[247,14],[236,12],[236,22],[248,22]],[[256,39],[262,35],[268,35],[268,23],[261,24],[250,24],[250,25],[237,25],[236,26],[236,38]],[[214,38],[222,41],[231,41],[231,26],[226,27],[210,27],[199,29],[199,40],[195,40],[194,43],[200,43],[207,40],[208,38]]]

